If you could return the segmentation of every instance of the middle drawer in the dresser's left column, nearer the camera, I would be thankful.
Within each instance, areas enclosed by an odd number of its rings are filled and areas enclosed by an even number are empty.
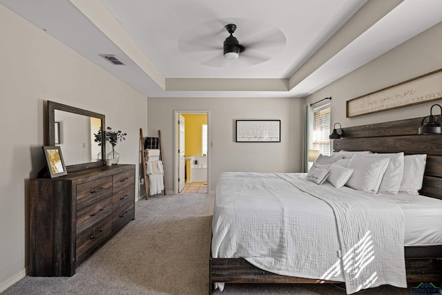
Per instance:
[[[108,196],[83,209],[77,210],[77,230],[81,233],[88,227],[93,227],[100,220],[112,215],[112,198]]]

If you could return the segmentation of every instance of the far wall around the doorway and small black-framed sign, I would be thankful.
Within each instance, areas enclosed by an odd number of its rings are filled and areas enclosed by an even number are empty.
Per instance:
[[[173,191],[174,111],[210,111],[210,190],[224,171],[300,172],[302,106],[296,98],[148,98],[149,135],[162,132],[166,190]],[[235,142],[235,120],[281,120],[281,142]]]

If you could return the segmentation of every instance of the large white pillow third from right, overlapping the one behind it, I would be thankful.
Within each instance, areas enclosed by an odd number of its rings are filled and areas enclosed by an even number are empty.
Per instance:
[[[355,154],[348,165],[354,171],[345,185],[365,193],[377,193],[389,161],[390,158],[373,159]]]

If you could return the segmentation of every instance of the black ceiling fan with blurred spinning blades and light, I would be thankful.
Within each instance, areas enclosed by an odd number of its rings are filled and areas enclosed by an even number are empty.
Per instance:
[[[238,35],[241,43],[236,38]],[[267,23],[252,19],[212,19],[184,31],[178,40],[178,49],[204,66],[238,68],[269,61],[285,44],[284,33]],[[236,62],[231,62],[235,59]]]

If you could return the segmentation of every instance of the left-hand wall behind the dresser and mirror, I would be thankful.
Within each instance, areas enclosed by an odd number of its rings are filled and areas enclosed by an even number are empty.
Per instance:
[[[29,179],[45,165],[44,102],[106,115],[108,126],[128,133],[117,145],[121,162],[138,164],[147,99],[1,5],[0,27],[8,28],[0,30],[1,292],[28,266]]]

